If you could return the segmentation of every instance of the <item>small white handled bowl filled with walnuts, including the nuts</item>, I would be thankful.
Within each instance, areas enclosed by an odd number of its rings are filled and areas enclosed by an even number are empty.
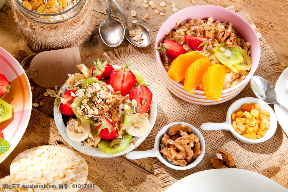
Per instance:
[[[157,157],[167,167],[187,170],[200,163],[205,153],[205,141],[194,126],[174,122],[164,126],[156,135],[154,148],[127,153],[128,159]]]

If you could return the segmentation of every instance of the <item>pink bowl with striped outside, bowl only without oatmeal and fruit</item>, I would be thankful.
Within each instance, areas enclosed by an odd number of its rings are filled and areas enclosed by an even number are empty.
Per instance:
[[[240,15],[232,12],[223,7],[218,7],[214,5],[196,5],[192,7],[187,7],[185,9],[181,9],[175,14],[171,15],[161,26],[157,37],[156,37],[156,45],[155,47],[160,46],[160,42],[163,42],[167,28],[174,28],[176,22],[179,19],[183,21],[189,21],[195,18],[199,19],[207,19],[212,17],[214,20],[231,22],[233,24],[233,28],[237,31],[237,34],[245,39],[245,41],[250,42],[250,58],[252,62],[251,70],[248,76],[238,85],[235,85],[232,88],[226,89],[222,91],[221,98],[218,101],[206,99],[204,92],[200,90],[196,90],[194,94],[190,94],[184,90],[184,86],[176,81],[169,79],[168,72],[162,64],[160,53],[156,50],[157,57],[157,66],[158,71],[160,73],[160,77],[164,81],[166,87],[170,92],[174,95],[183,99],[184,101],[199,104],[199,105],[215,105],[220,104],[225,101],[228,101],[238,95],[250,81],[254,72],[257,69],[260,60],[260,43],[259,39],[252,28],[252,26]]]

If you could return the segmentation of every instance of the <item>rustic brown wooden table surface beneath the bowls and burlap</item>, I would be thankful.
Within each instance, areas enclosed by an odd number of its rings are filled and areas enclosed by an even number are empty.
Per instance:
[[[159,7],[162,0],[153,0],[154,4]],[[288,28],[288,3],[285,0],[270,1],[270,0],[195,0],[195,5],[210,4],[227,7],[234,5],[236,9],[246,9],[251,16],[256,27],[259,28],[262,36],[266,39],[268,44],[274,50],[278,64],[285,63],[287,60],[287,28]],[[170,3],[174,2],[178,10],[183,9],[194,4],[191,1],[175,0],[165,1],[166,9],[165,16],[154,14],[153,10],[142,7],[142,0],[118,0],[123,7],[130,20],[138,20],[139,23],[144,24],[150,30],[152,36],[156,35],[161,24],[171,15]],[[99,24],[106,20],[107,14],[105,12],[106,4],[104,0],[94,0],[93,14],[96,20],[94,24],[94,31],[91,37],[87,39],[81,46],[82,62],[86,65],[92,64],[97,58],[101,57],[103,52],[112,50],[107,47],[99,38]],[[112,16],[121,20],[124,23],[123,17],[116,9],[115,5],[111,3]],[[130,12],[135,10],[136,17],[132,17]],[[149,14],[150,18],[146,22],[142,20],[144,14]],[[11,8],[6,5],[3,11],[0,12],[0,46],[10,52],[19,62],[26,56],[34,53],[31,48],[22,40],[21,34],[16,31],[16,23],[13,19],[13,12]],[[13,32],[11,32],[13,31]],[[128,42],[124,40],[119,47],[125,47]],[[285,68],[283,67],[283,70]],[[53,103],[54,99],[51,97],[44,97],[44,88],[36,85],[30,80],[31,86],[35,87],[32,90],[33,102],[39,103],[44,101],[44,106],[39,106],[32,109],[31,119],[21,141],[14,149],[14,151],[0,164],[0,178],[9,175],[9,167],[12,160],[22,151],[41,145],[58,145],[69,146],[63,138],[58,135],[58,130],[53,119]],[[142,143],[136,150],[146,150],[145,144]],[[81,153],[80,153],[81,154]],[[101,159],[93,158],[81,154],[89,165],[88,179],[98,185],[103,191],[160,191],[159,180],[154,174],[152,162],[154,158],[145,158],[139,160],[129,160],[125,155],[121,157]],[[244,161],[245,159],[243,159]],[[266,170],[262,172],[263,175],[271,178],[277,183],[288,188],[288,165],[274,170]]]

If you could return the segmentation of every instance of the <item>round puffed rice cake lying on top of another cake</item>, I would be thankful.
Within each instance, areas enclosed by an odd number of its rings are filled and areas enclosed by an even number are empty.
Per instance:
[[[75,185],[84,185],[88,165],[78,153],[65,147],[40,146],[17,155],[10,166],[12,184],[20,184],[19,192],[76,192]],[[27,189],[22,185],[55,185],[54,189]],[[59,184],[68,187],[60,189]]]

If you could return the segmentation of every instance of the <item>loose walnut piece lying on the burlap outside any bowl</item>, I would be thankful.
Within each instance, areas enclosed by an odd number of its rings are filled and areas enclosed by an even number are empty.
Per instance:
[[[216,159],[210,158],[210,163],[215,169],[232,168],[235,165],[232,155],[223,149],[219,149],[216,156]]]

